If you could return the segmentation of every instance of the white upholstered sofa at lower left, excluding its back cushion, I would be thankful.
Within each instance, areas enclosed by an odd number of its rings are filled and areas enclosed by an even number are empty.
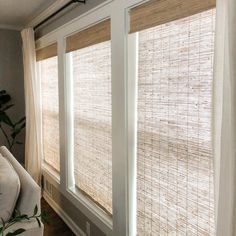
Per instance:
[[[27,171],[18,163],[18,161],[14,158],[14,156],[8,151],[6,147],[0,147],[0,154],[11,163],[11,165],[15,169],[15,172],[19,176],[20,193],[16,202],[16,208],[21,212],[21,214],[27,214],[28,216],[31,216],[33,215],[34,208],[37,205],[40,214],[40,187],[35,183],[35,181],[27,173]],[[25,232],[20,234],[21,236],[43,236],[44,226],[41,223],[41,227],[39,227],[35,219],[27,222],[16,223],[12,227],[10,227],[7,232],[12,232],[19,228],[23,228],[26,230]]]

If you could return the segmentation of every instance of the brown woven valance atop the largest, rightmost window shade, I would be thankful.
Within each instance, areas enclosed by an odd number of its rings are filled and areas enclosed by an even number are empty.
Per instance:
[[[214,8],[216,0],[150,0],[130,11],[130,33]]]

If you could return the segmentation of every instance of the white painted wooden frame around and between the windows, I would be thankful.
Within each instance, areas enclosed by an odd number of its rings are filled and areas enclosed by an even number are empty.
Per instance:
[[[44,166],[43,173],[50,176],[57,183],[60,192],[107,235],[134,236],[136,234],[137,127],[134,121],[136,121],[137,116],[135,111],[137,99],[137,58],[135,59],[137,34],[128,37],[128,10],[146,1],[107,0],[36,41],[36,49],[54,42],[57,42],[58,45],[60,182],[53,172]],[[73,188],[71,58],[69,54],[65,53],[66,37],[107,18],[111,19],[112,218]],[[127,65],[128,57],[133,59],[129,65]]]

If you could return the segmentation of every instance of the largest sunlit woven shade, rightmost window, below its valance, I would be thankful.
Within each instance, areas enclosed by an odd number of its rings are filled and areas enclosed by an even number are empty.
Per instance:
[[[140,236],[214,235],[214,23],[213,9],[139,33]]]

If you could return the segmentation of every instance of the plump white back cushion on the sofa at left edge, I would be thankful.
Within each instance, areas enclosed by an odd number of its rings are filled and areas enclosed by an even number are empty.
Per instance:
[[[20,179],[12,165],[0,154],[0,219],[11,218],[20,193]]]

